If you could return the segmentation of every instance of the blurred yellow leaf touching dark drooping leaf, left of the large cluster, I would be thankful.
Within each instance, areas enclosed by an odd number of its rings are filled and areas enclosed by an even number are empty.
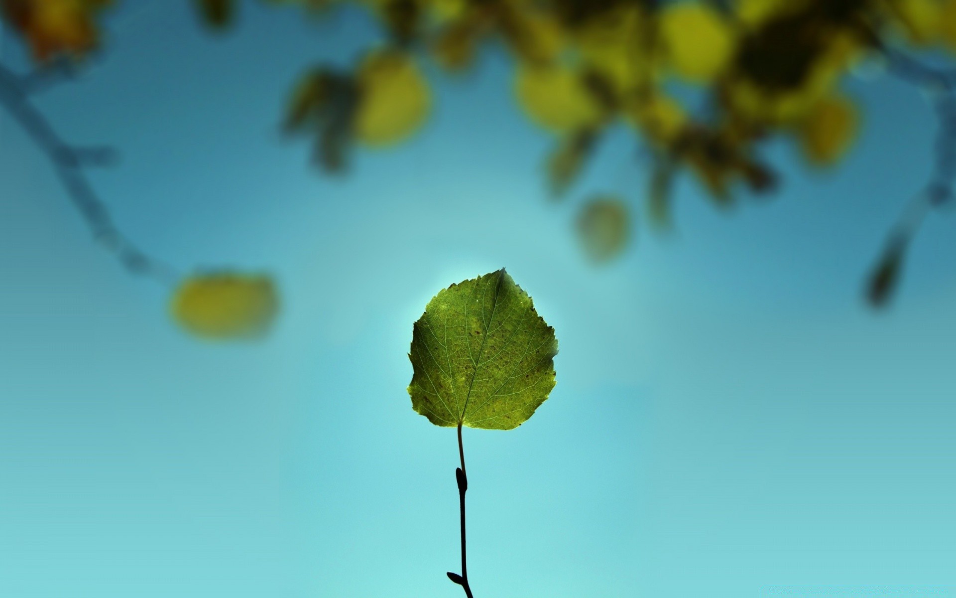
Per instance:
[[[394,144],[422,126],[431,109],[431,92],[410,56],[391,50],[373,52],[359,66],[357,80],[354,130],[360,142]]]

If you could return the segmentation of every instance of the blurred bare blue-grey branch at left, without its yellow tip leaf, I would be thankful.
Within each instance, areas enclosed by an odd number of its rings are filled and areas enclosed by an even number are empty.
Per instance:
[[[86,166],[114,162],[116,152],[110,148],[78,147],[64,142],[31,102],[30,93],[52,81],[57,74],[71,75],[72,71],[61,66],[23,77],[0,64],[0,105],[47,155],[60,183],[98,243],[116,255],[132,273],[155,277],[163,282],[174,280],[176,275],[169,266],[143,253],[120,233],[84,173]]]

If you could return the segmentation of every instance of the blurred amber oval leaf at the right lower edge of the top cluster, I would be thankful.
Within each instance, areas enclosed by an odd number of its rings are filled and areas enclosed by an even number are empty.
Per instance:
[[[817,166],[835,164],[856,137],[857,124],[857,108],[847,98],[816,102],[797,130],[804,156]]]

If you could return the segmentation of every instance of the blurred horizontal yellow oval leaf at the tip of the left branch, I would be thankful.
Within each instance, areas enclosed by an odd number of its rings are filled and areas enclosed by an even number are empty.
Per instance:
[[[268,276],[205,274],[186,277],[170,308],[173,318],[196,336],[249,339],[269,330],[278,298]]]

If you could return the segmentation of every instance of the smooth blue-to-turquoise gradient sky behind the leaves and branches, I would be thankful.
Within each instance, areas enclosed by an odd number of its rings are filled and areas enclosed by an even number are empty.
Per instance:
[[[210,35],[186,2],[126,5],[39,105],[120,148],[92,176],[125,233],[184,271],[268,270],[283,310],[262,343],[183,334],[0,114],[0,596],[461,595],[454,432],[410,409],[406,352],[435,292],[502,266],[558,383],[518,430],[466,431],[479,598],[956,595],[952,215],[894,307],[860,299],[930,171],[914,89],[848,81],[865,126],[836,172],[774,144],[783,192],[730,213],[683,180],[677,232],[595,268],[577,207],[641,205],[646,168],[618,130],[549,203],[500,52],[330,177],[277,122],[307,65],[378,38],[363,14],[244,6]]]

